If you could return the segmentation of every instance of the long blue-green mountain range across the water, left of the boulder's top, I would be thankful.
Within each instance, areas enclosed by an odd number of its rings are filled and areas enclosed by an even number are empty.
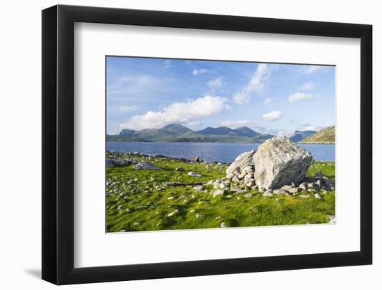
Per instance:
[[[273,135],[260,134],[248,127],[207,127],[192,131],[181,124],[169,124],[161,129],[140,131],[123,129],[117,135],[107,135],[108,141],[125,142],[210,142],[210,143],[262,143]]]

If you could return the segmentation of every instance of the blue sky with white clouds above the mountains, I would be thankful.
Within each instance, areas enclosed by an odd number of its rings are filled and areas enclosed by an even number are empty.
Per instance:
[[[335,67],[106,58],[107,133],[183,124],[290,136],[335,124]]]

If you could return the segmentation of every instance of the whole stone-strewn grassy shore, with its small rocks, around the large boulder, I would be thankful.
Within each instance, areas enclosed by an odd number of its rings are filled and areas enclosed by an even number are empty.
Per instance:
[[[333,162],[313,162],[298,184],[265,188],[247,165],[230,175],[224,163],[106,155],[108,232],[335,223]]]

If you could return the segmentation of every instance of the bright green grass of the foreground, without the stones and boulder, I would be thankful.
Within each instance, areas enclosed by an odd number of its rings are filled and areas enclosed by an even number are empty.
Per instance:
[[[129,158],[153,162],[164,170],[135,170],[132,165],[107,168],[107,232],[216,228],[222,222],[226,227],[301,225],[327,223],[327,216],[334,215],[334,191],[322,193],[321,200],[313,194],[306,199],[299,195],[266,198],[249,188],[245,193],[228,192],[213,198],[212,186],[206,186],[207,193],[197,193],[192,186],[163,186],[163,183],[222,178],[228,164],[191,164],[139,155]],[[174,171],[176,167],[185,171]],[[189,171],[202,176],[190,177]],[[317,171],[334,179],[333,162],[313,163],[308,175]],[[251,198],[244,197],[247,193],[251,193]],[[168,216],[175,210],[176,214]]]

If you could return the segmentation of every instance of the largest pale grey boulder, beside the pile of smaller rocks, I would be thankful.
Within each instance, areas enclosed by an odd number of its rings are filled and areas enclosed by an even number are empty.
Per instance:
[[[267,189],[281,188],[286,184],[300,184],[312,155],[289,138],[274,136],[258,147],[254,154],[256,185]]]

